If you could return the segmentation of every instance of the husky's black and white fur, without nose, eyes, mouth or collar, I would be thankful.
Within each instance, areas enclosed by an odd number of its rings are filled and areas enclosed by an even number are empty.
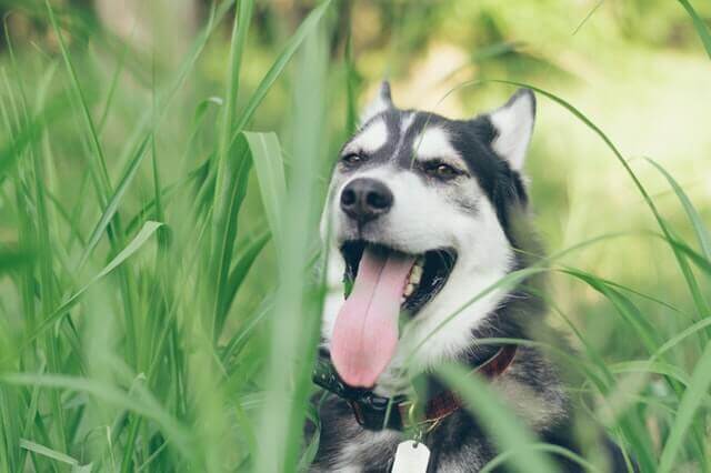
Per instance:
[[[467,306],[411,356],[445,318],[507,273],[525,266],[527,255],[538,252],[527,225],[522,178],[534,115],[535,99],[529,90],[518,91],[491,113],[449,120],[399,110],[383,83],[360,130],[343,145],[342,157],[360,153],[367,160],[356,168],[336,165],[323,212],[322,234],[330,249],[324,351],[343,303],[344,266],[339,249],[344,241],[362,239],[411,254],[438,248],[457,252],[447,284],[401,329],[397,354],[373,389],[377,394],[407,393],[412,373],[428,372],[443,361],[477,365],[495,349],[478,346],[478,339],[527,338],[531,324],[542,324],[538,298],[523,288],[497,290]],[[461,173],[440,180],[425,172],[433,162]],[[357,178],[382,181],[394,197],[388,214],[362,227],[353,225],[338,203],[342,189]],[[441,389],[434,378],[429,383]],[[514,363],[492,386],[542,441],[575,450],[569,401],[555,368],[542,353],[520,348]],[[311,471],[390,471],[395,447],[403,440],[401,432],[363,430],[348,404],[336,396],[322,404],[320,417],[320,446]],[[432,452],[430,472],[475,472],[497,454],[464,410],[447,417],[425,443]],[[577,471],[573,464],[562,465],[564,471]]]

